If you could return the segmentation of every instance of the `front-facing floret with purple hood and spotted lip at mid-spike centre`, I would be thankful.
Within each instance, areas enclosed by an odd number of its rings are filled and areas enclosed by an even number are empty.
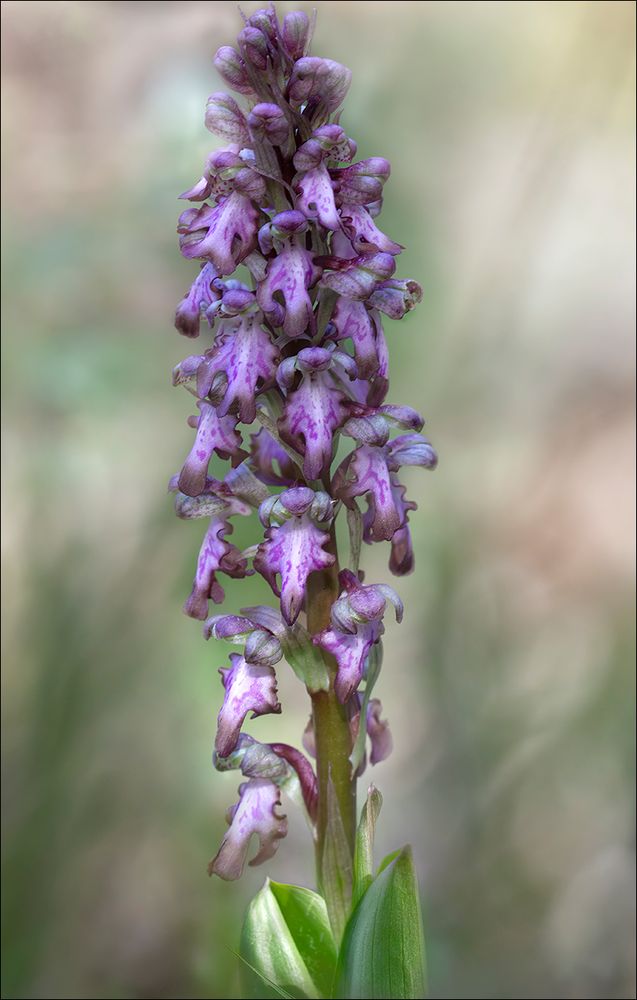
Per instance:
[[[349,416],[351,403],[342,384],[334,377],[333,366],[341,362],[355,375],[349,355],[324,347],[307,347],[296,358],[288,358],[279,368],[279,385],[289,390],[279,432],[284,441],[304,456],[306,479],[318,479],[332,461],[334,432]],[[301,382],[290,389],[295,373]]]

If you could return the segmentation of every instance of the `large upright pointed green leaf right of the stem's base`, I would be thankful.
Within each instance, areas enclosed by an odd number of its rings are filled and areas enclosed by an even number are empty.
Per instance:
[[[338,960],[334,996],[421,1000],[425,942],[411,848],[377,876],[354,910]]]

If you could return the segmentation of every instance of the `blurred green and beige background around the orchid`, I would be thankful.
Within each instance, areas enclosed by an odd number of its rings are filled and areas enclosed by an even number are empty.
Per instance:
[[[387,321],[390,398],[441,456],[407,470],[378,856],[414,845],[433,997],[634,997],[635,7],[316,7],[314,53],[354,71],[343,124],[393,163],[399,273],[425,288]],[[210,764],[227,651],[181,614],[201,525],[166,482],[192,437],[176,196],[215,142],[211,56],[239,12],[2,17],[2,996],[235,997],[266,871],[205,874],[238,783]],[[366,549],[370,577],[387,557]],[[255,579],[226,593],[268,601]],[[284,714],[252,732],[297,742],[305,698],[279,673]],[[267,873],[311,885],[287,812]]]

